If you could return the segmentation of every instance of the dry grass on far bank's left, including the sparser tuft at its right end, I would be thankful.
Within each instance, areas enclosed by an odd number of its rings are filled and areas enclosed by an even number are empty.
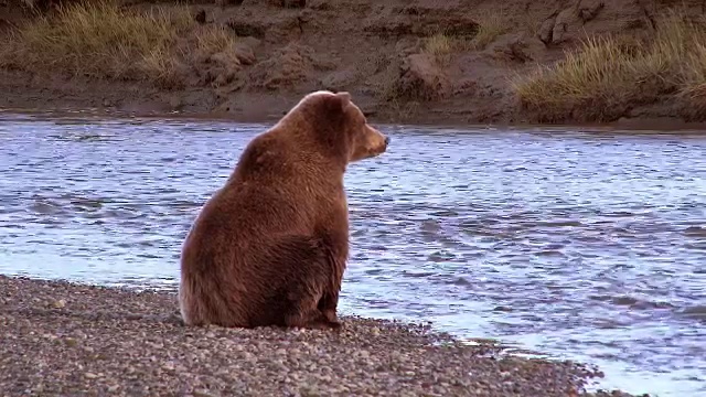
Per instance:
[[[222,28],[201,29],[186,7],[133,12],[116,1],[72,3],[14,32],[0,51],[0,67],[107,79],[183,83],[183,71],[201,60],[235,52],[236,37]],[[237,58],[235,58],[237,62]]]

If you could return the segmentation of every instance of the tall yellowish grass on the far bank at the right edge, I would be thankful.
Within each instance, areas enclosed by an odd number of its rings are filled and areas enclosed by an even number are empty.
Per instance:
[[[665,13],[650,41],[587,39],[578,51],[516,78],[522,106],[539,121],[612,121],[665,96],[706,105],[706,29]],[[706,106],[704,107],[706,109]]]

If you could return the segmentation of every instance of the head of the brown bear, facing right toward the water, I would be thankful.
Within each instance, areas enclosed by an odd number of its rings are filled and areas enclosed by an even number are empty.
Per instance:
[[[345,92],[318,90],[304,96],[286,118],[312,133],[322,150],[346,163],[379,155],[389,138],[371,127]]]

